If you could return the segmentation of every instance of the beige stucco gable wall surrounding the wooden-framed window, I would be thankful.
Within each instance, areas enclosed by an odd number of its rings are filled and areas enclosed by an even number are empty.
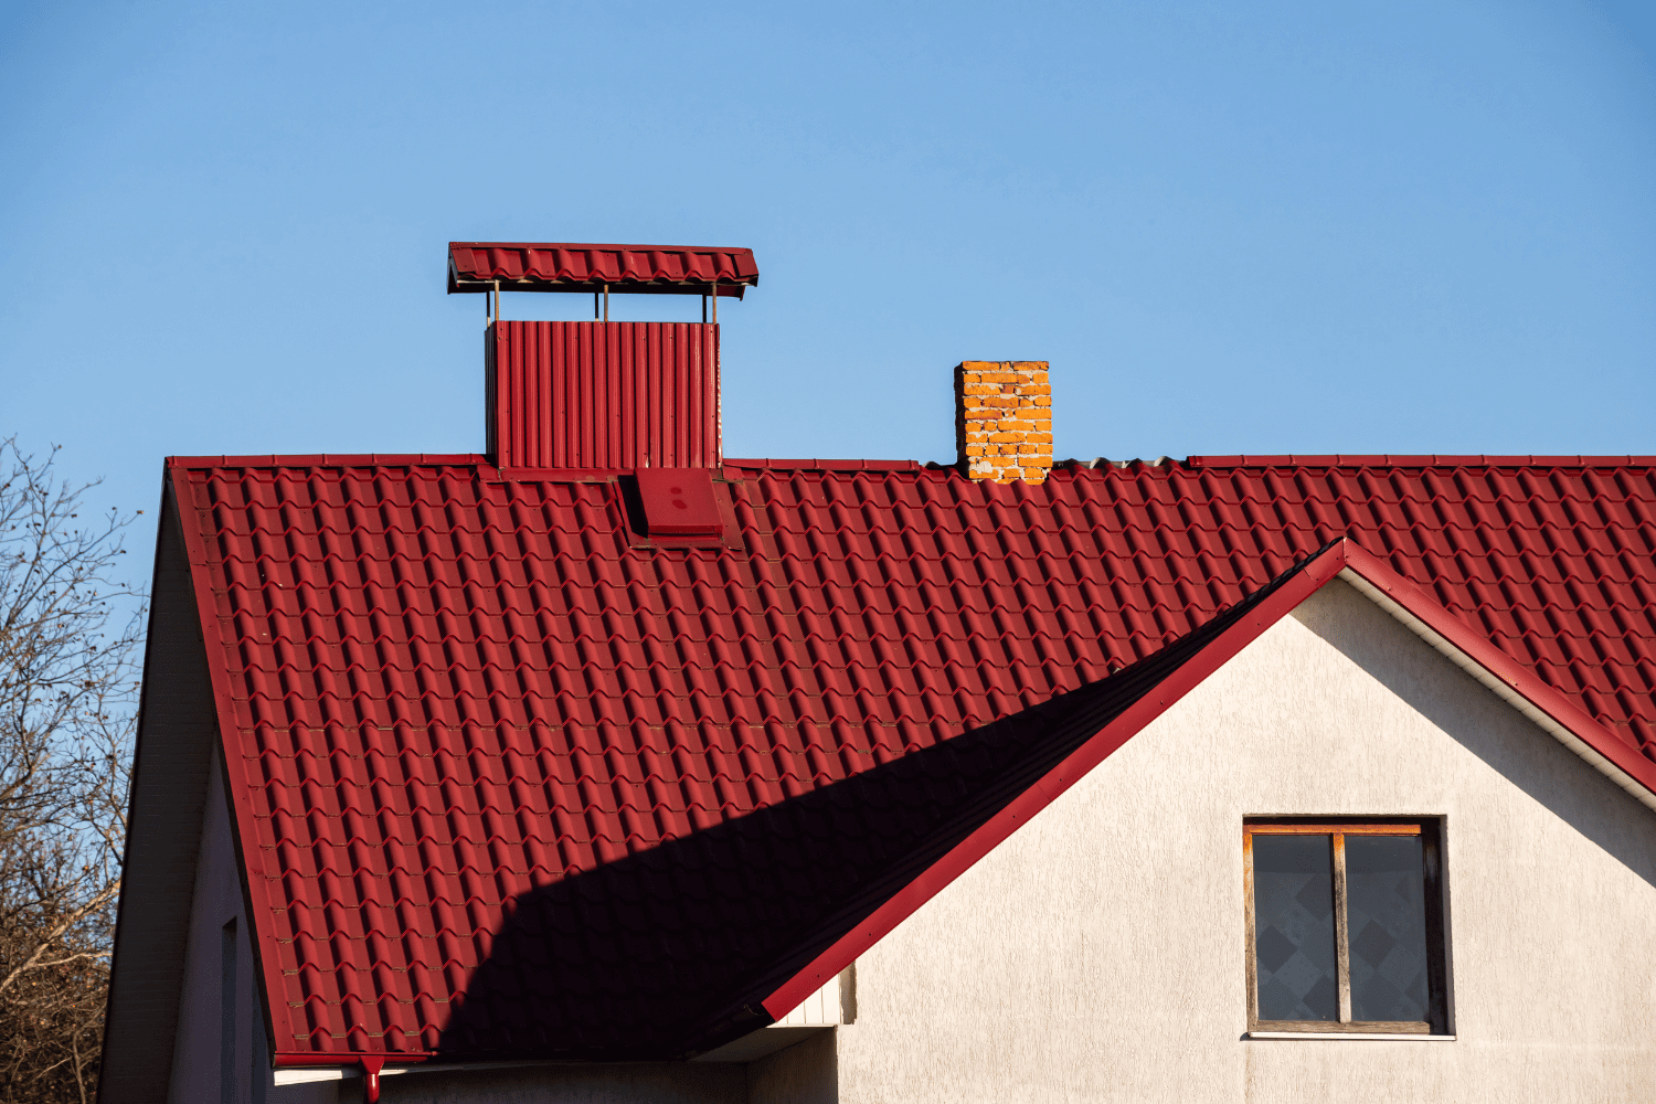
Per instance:
[[[1245,1039],[1242,818],[1446,818],[1456,1041]],[[841,1101],[1656,1099],[1656,814],[1343,583],[858,962]]]

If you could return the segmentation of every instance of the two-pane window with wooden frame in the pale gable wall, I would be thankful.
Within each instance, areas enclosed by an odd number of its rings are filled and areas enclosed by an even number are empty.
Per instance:
[[[1249,819],[1249,1033],[1447,1034],[1436,819]]]

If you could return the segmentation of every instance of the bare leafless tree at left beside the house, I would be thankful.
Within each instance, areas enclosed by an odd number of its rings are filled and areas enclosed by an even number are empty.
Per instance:
[[[137,713],[132,518],[83,520],[55,458],[0,440],[3,1104],[94,1094]]]

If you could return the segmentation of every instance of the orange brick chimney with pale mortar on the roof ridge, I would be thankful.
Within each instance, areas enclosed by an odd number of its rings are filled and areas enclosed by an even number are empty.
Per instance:
[[[964,361],[956,367],[954,444],[972,478],[1043,482],[1052,470],[1047,361]]]

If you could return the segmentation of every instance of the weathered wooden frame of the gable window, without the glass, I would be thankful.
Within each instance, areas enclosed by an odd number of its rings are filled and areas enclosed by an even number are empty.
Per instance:
[[[1254,836],[1331,836],[1335,960],[1340,1020],[1260,1020],[1259,948],[1254,940]],[[1351,1020],[1351,919],[1346,909],[1346,836],[1419,836],[1426,904],[1426,986],[1423,1021]],[[1247,1030],[1282,1034],[1449,1034],[1449,955],[1444,932],[1442,821],[1439,818],[1264,818],[1242,821],[1242,897],[1247,914]]]

